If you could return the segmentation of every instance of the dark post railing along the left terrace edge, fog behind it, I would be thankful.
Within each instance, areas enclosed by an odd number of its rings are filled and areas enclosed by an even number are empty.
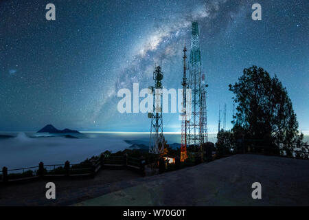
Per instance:
[[[132,168],[141,172],[144,170],[144,166],[145,164],[141,163],[139,158],[128,157],[127,155],[105,157],[102,153],[98,159],[93,159],[89,163],[84,164],[70,164],[67,161],[65,164],[52,165],[45,165],[43,162],[40,162],[38,166],[11,170],[3,167],[0,170],[0,182],[8,183],[40,177],[95,177],[96,173],[102,168]]]

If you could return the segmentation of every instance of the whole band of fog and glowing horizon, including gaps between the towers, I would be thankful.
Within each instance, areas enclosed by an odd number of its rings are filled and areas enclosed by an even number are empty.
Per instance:
[[[8,133],[6,133],[8,135]],[[79,138],[51,136],[47,133],[10,133],[16,137],[0,138],[0,168],[8,169],[45,165],[71,164],[84,161],[93,155],[108,150],[122,151],[130,144],[125,140],[135,140],[136,143],[149,143],[149,133],[81,133],[73,134]],[[179,133],[166,133],[168,144],[180,143]],[[308,141],[308,135],[304,137]],[[216,142],[216,134],[209,134],[209,142]]]

